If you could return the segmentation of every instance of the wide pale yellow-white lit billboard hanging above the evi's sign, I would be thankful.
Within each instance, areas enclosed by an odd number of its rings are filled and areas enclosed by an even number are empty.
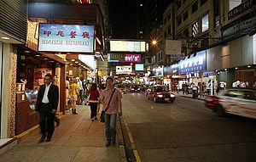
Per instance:
[[[110,41],[111,52],[146,52],[146,42]]]

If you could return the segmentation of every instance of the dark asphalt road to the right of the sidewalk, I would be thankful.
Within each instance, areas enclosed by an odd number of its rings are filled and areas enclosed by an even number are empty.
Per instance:
[[[144,93],[123,95],[128,161],[255,161],[256,120],[221,118],[203,101],[177,97],[154,103]]]

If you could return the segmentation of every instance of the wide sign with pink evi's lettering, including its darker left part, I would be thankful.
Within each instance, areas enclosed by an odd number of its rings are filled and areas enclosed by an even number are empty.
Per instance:
[[[141,54],[108,53],[108,62],[141,63]]]

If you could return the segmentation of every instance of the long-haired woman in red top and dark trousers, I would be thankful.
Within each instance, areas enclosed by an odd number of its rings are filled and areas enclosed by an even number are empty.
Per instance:
[[[89,103],[90,103],[90,120],[97,120],[97,105],[99,103],[100,93],[97,90],[96,83],[92,83],[89,90]]]

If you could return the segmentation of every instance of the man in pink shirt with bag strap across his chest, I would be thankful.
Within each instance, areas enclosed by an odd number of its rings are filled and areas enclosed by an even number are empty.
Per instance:
[[[117,115],[122,115],[122,94],[113,87],[113,78],[108,77],[106,84],[107,87],[102,91],[100,101],[106,111],[104,116],[107,137],[106,147],[109,147],[111,142],[115,143]]]

